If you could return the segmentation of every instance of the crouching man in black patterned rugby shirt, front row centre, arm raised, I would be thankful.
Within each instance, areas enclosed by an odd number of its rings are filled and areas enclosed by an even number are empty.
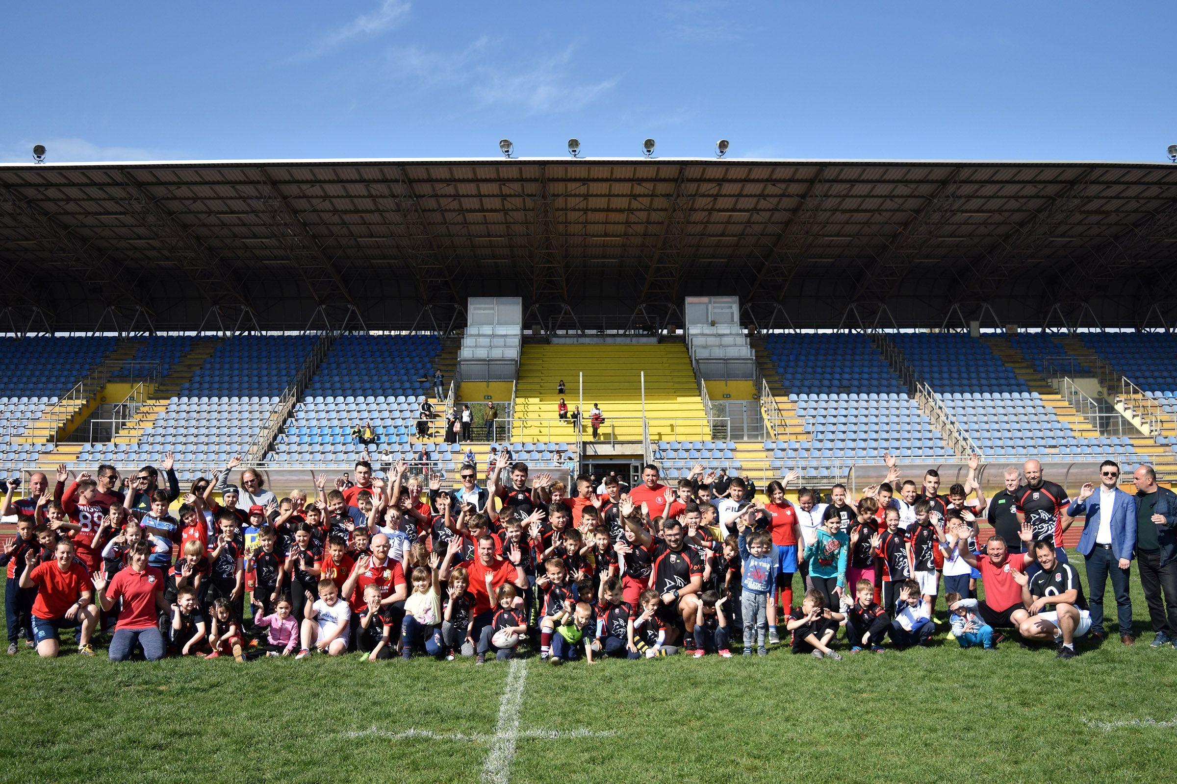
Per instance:
[[[699,554],[685,545],[683,524],[673,517],[663,523],[661,537],[657,540],[643,525],[641,512],[632,501],[621,500],[621,518],[636,540],[651,550],[653,574],[650,584],[661,598],[658,618],[666,624],[666,641],[677,643],[683,639],[691,649],[699,609],[698,594],[703,589]]]

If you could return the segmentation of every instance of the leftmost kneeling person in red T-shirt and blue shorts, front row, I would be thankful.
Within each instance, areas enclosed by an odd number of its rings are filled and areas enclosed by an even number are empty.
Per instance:
[[[38,556],[29,550],[25,554],[25,571],[20,575],[21,588],[35,588],[36,599],[33,602],[33,641],[36,652],[45,658],[53,658],[61,646],[58,631],[81,626],[78,652],[93,656],[94,648],[89,636],[98,621],[98,608],[94,597],[94,583],[89,579],[86,567],[74,559],[74,547],[69,540],[58,542],[53,551],[53,561],[38,564]]]

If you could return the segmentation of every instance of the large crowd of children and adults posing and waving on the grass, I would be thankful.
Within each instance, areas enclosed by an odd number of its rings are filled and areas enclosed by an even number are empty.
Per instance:
[[[505,454],[485,485],[473,462],[447,488],[404,461],[380,477],[360,460],[353,476],[312,475],[312,495],[282,498],[252,468],[230,484],[238,458],[182,495],[171,455],[128,477],[62,465],[53,485],[33,474],[25,497],[7,483],[8,654],[24,638],[56,656],[69,630],[84,656],[107,641],[111,661],[483,663],[525,646],[560,664],[782,644],[840,659],[1005,639],[1071,658],[1108,636],[1109,578],[1116,634],[1135,643],[1133,561],[1151,645],[1177,648],[1177,495],[1150,467],[1129,494],[1104,461],[1072,498],[1030,460],[985,498],[976,456],[947,494],[937,471],[903,478],[885,462],[886,481],[857,498],[836,484],[796,501],[794,471],[763,497],[701,464],[673,487],[652,464],[632,489],[612,475],[565,487]],[[1086,591],[1062,547],[1076,521]]]

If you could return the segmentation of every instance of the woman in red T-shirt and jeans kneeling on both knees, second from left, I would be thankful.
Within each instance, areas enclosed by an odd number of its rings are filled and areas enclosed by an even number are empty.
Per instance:
[[[127,568],[117,574],[109,584],[101,575],[94,577],[95,601],[104,610],[111,610],[122,599],[119,622],[111,638],[112,662],[131,658],[135,643],[144,649],[148,662],[161,659],[167,652],[157,624],[159,612],[167,609],[164,574],[147,565],[149,554],[151,547],[146,542],[135,542],[127,554]]]

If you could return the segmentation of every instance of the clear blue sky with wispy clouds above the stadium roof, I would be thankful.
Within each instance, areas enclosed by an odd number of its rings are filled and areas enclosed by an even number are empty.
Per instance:
[[[6,2],[0,161],[488,156],[501,136],[1161,161],[1172,29],[1171,2]]]

